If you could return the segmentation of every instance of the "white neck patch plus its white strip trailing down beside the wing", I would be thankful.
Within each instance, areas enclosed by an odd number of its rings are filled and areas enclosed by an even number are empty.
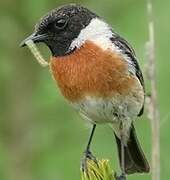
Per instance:
[[[126,54],[123,54],[122,50],[110,40],[113,36],[114,33],[107,23],[99,18],[94,18],[87,27],[81,30],[79,36],[73,40],[70,45],[70,49],[80,48],[87,40],[89,40],[103,50],[110,49],[121,55],[128,63],[129,71],[135,74],[136,69],[131,59]]]

